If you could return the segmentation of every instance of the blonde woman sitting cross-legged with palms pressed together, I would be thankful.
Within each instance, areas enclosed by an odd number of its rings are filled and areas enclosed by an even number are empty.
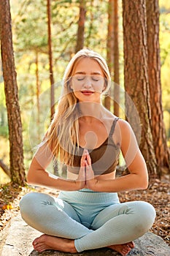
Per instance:
[[[134,239],[155,219],[146,202],[120,203],[117,192],[146,189],[147,167],[130,125],[101,104],[110,75],[104,59],[80,50],[63,77],[58,108],[28,170],[28,183],[59,189],[58,197],[29,193],[20,201],[23,219],[44,235],[33,242],[43,252],[82,252],[108,246],[128,255]],[[122,151],[130,174],[115,178]],[[45,169],[58,158],[67,178]]]

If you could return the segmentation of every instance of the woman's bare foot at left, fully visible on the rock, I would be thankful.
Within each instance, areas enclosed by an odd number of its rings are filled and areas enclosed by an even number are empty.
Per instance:
[[[34,249],[37,252],[43,252],[46,249],[53,249],[61,252],[75,253],[74,240],[59,238],[56,236],[42,235],[33,241]]]

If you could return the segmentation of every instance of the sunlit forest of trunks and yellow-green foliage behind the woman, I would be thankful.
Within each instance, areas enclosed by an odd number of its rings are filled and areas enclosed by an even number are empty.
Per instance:
[[[0,25],[0,230],[32,189],[25,186],[28,166],[50,124],[66,65],[84,47],[107,59],[112,89],[103,103],[128,119],[147,162],[148,189],[119,193],[120,201],[152,203],[151,231],[170,244],[170,2],[4,0]],[[120,165],[126,174],[121,158]]]

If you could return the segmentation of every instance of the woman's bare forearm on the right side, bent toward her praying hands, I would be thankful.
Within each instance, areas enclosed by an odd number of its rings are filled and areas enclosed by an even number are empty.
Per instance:
[[[138,174],[131,173],[127,176],[109,180],[101,180],[96,178],[88,188],[97,192],[123,192],[136,189],[147,189],[147,186],[147,176],[139,176]]]

